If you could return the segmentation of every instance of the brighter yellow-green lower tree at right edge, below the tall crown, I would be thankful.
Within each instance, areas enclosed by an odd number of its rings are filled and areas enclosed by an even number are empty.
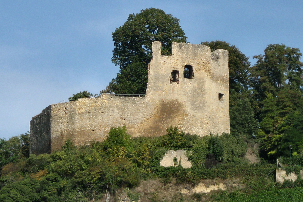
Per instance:
[[[261,102],[260,131],[258,138],[263,140],[261,149],[266,156],[276,158],[288,156],[288,145],[293,145],[294,151],[303,149],[302,121],[303,104],[299,91],[284,86],[276,96],[270,93]]]

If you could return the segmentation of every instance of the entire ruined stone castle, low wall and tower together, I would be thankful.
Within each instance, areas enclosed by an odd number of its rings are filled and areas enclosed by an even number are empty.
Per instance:
[[[132,137],[164,135],[169,126],[200,136],[229,133],[228,51],[176,42],[172,55],[160,50],[153,42],[145,97],[102,94],[51,104],[30,122],[30,153],[61,149],[67,139],[103,141],[118,126]]]

